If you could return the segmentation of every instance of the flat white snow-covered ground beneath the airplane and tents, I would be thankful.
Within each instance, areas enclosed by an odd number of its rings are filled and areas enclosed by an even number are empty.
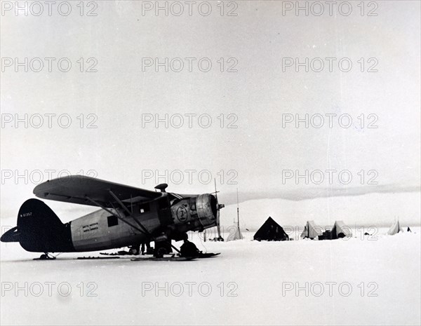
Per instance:
[[[419,229],[377,240],[244,236],[195,236],[221,254],[192,262],[33,261],[1,243],[1,325],[420,325]]]

